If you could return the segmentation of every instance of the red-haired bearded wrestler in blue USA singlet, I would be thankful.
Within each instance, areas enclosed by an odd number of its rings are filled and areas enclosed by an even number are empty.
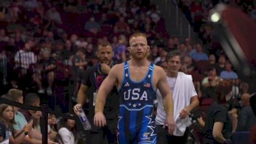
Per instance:
[[[97,94],[94,124],[104,127],[108,122],[104,116],[104,106],[108,93],[114,86],[120,97],[118,116],[118,143],[156,143],[156,125],[153,115],[156,90],[163,95],[168,133],[174,129],[172,94],[163,68],[147,60],[149,46],[147,36],[134,33],[129,38],[128,48],[131,60],[115,65],[103,81]]]

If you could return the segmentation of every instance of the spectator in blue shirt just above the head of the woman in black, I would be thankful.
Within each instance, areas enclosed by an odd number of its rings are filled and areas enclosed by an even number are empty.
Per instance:
[[[226,61],[225,68],[226,68],[226,70],[223,70],[220,73],[221,78],[223,78],[223,79],[237,79],[238,78],[236,72],[234,72],[232,70],[232,65],[231,65],[230,61]]]

